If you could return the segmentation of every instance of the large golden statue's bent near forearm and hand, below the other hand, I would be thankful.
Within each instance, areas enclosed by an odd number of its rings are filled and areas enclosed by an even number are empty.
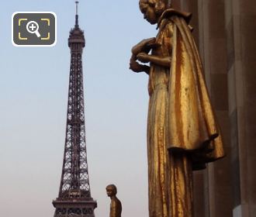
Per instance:
[[[171,66],[171,57],[158,57],[144,52],[137,54],[137,60],[140,60],[142,63],[150,62],[152,64],[157,64],[161,67]]]

